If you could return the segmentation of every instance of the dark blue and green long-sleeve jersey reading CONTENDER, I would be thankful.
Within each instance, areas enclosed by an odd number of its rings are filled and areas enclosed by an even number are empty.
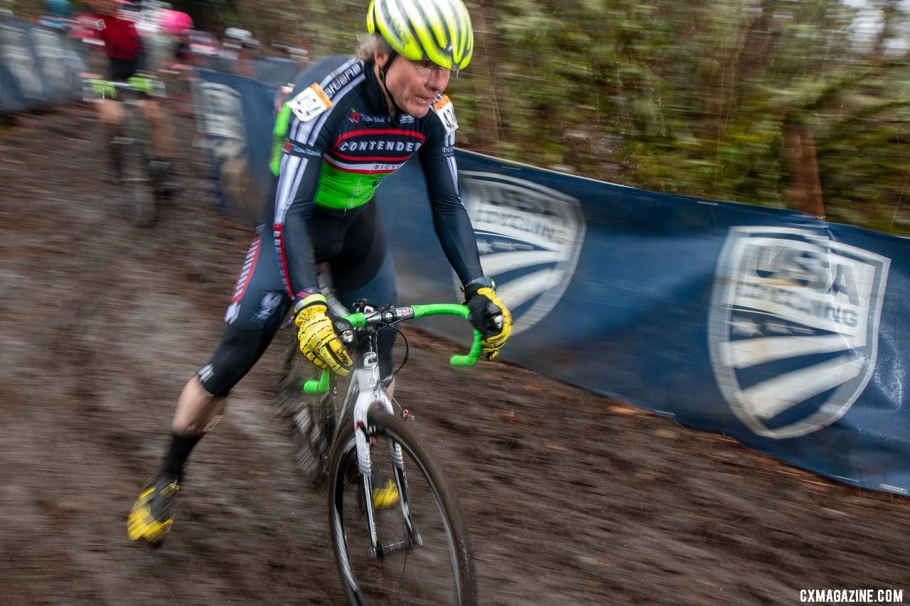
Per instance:
[[[413,155],[427,182],[433,227],[462,284],[481,278],[470,218],[461,204],[454,158],[454,115],[438,96],[422,117],[389,114],[372,64],[333,56],[297,78],[278,116],[272,167],[278,186],[266,209],[292,298],[319,288],[308,219],[319,208],[375,204],[382,180]],[[318,236],[317,236],[318,237]]]

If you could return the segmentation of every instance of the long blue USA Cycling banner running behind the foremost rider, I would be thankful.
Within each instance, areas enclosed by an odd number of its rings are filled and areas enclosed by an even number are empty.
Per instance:
[[[231,82],[248,153],[268,157],[271,98]],[[910,490],[910,239],[456,158],[485,272],[514,315],[503,359],[846,484]],[[420,164],[377,200],[401,299],[460,300]],[[452,318],[421,321],[467,342]]]

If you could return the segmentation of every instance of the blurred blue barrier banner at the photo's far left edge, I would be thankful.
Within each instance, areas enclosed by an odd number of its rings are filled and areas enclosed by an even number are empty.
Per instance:
[[[0,111],[34,109],[77,99],[86,63],[73,40],[54,27],[0,23]]]

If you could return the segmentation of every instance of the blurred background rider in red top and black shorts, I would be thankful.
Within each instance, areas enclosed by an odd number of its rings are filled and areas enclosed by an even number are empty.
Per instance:
[[[98,37],[105,43],[108,80],[126,82],[132,76],[144,74],[146,49],[142,37],[136,31],[136,24],[125,17],[118,0],[88,0],[86,2],[97,15],[95,27]],[[120,123],[123,121],[123,107],[116,99],[104,99],[98,104],[98,112],[105,126],[108,144],[108,168],[104,177],[108,181],[120,180],[120,157],[112,145]],[[151,125],[152,153],[154,158],[148,167],[153,178],[167,186],[173,172],[170,123],[164,106],[153,96],[143,101],[143,113]]]

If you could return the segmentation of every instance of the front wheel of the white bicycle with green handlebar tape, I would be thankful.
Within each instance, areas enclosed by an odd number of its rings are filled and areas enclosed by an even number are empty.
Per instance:
[[[401,447],[411,519],[422,541],[369,558],[369,523],[355,429],[352,423],[339,428],[329,458],[329,527],[350,603],[476,604],[470,540],[448,481],[406,421],[379,409],[371,409],[367,421],[374,470],[386,465],[381,472],[393,473],[389,471],[387,440]],[[408,542],[402,502],[375,513],[380,543]]]

